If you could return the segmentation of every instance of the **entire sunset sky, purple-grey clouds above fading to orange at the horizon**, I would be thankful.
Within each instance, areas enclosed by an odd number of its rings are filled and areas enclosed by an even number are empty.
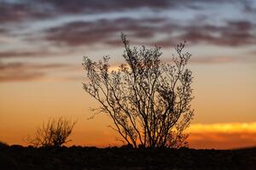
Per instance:
[[[50,117],[78,120],[69,145],[119,144],[108,116],[86,94],[83,56],[124,62],[132,46],[177,43],[192,54],[195,116],[189,147],[256,145],[256,1],[0,0],[0,141],[26,145]]]

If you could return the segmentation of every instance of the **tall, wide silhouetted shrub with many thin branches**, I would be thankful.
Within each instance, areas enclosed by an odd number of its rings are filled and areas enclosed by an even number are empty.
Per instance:
[[[183,131],[194,116],[190,109],[192,72],[186,68],[191,54],[183,53],[185,42],[177,45],[172,64],[160,61],[160,47],[131,48],[124,34],[126,64],[110,71],[109,57],[94,62],[84,57],[88,82],[84,90],[101,106],[122,141],[133,147],[172,147],[186,143]]]

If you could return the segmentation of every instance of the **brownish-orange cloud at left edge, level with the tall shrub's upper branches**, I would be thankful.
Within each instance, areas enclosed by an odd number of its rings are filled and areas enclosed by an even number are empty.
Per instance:
[[[0,82],[37,81],[47,76],[52,69],[73,70],[75,65],[64,64],[25,64],[20,62],[0,62]]]

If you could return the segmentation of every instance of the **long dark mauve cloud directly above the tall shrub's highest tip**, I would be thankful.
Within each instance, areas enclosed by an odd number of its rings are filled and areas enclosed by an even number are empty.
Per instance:
[[[57,44],[67,44],[69,46],[91,45],[95,43],[119,44],[121,31],[131,32],[133,37],[151,38],[154,32],[161,31],[158,26],[148,26],[162,22],[163,19],[135,20],[122,18],[117,20],[96,20],[96,21],[79,21],[68,23],[63,26],[57,26],[48,29],[45,33],[46,40],[56,42]]]

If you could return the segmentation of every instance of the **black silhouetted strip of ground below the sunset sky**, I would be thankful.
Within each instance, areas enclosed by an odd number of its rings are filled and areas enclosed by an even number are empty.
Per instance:
[[[256,169],[256,148],[245,150],[0,146],[2,170]]]

